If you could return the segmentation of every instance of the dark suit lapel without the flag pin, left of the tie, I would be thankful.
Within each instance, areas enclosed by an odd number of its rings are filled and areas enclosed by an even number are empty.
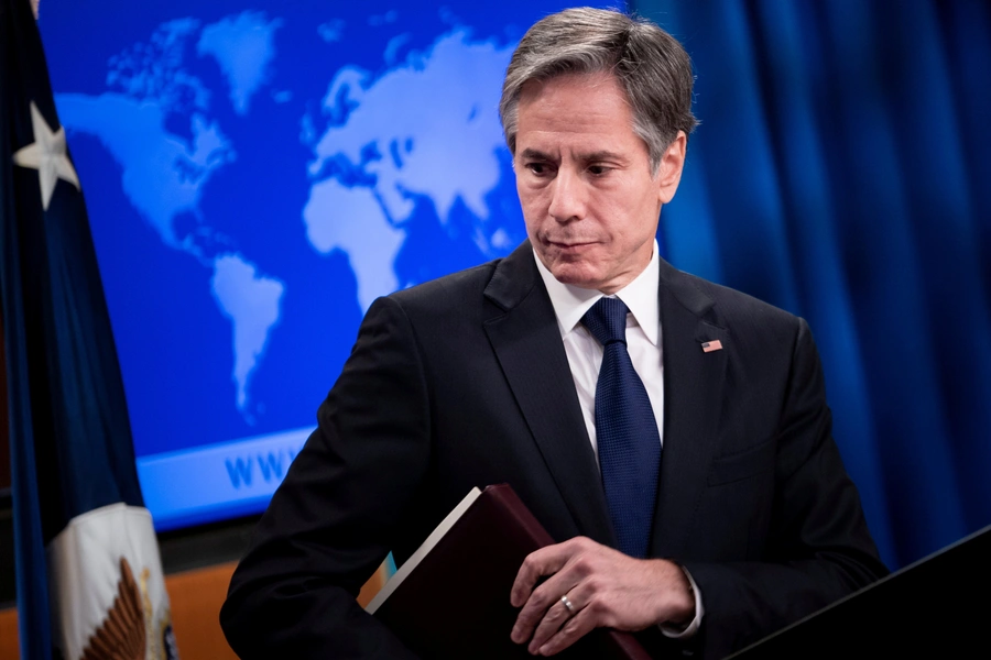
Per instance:
[[[500,262],[486,289],[499,308],[486,333],[576,526],[614,546],[557,318],[533,258],[527,241]]]

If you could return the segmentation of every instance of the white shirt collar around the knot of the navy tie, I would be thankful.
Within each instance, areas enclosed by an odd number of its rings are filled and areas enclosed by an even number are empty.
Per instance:
[[[547,287],[547,295],[551,296],[551,305],[554,306],[554,315],[557,317],[560,336],[564,338],[565,334],[575,329],[581,321],[585,312],[598,302],[603,294],[596,289],[586,289],[558,282],[537,256],[536,252],[533,253],[533,258],[536,261],[537,271],[541,273],[544,286]],[[630,284],[614,294],[614,297],[622,300],[630,308],[633,319],[643,328],[643,333],[655,346],[657,345],[661,328],[661,311],[657,302],[657,287],[660,286],[661,277],[658,260],[657,241],[654,240],[654,251],[651,254],[647,267],[634,277]]]

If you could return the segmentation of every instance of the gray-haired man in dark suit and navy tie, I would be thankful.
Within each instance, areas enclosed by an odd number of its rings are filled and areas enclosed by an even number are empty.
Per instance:
[[[239,654],[407,657],[353,597],[491,483],[562,541],[507,594],[533,653],[660,627],[718,658],[884,574],[805,322],[657,255],[691,82],[617,12],[527,32],[500,110],[530,240],[369,309],[231,582]]]

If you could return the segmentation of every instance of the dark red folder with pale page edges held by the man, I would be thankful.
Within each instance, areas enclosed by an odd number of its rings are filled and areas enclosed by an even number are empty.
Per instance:
[[[533,658],[510,639],[510,588],[523,559],[553,542],[509,485],[475,490],[368,609],[422,658]],[[632,635],[609,629],[557,657],[650,659]]]

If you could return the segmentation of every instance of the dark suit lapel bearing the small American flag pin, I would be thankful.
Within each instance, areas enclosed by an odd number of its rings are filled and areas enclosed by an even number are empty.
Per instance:
[[[722,386],[729,350],[706,353],[701,344],[720,341],[712,300],[686,275],[661,262],[661,332],[664,360],[664,448],[652,538],[653,557],[678,557],[696,505],[706,487],[717,444]]]

